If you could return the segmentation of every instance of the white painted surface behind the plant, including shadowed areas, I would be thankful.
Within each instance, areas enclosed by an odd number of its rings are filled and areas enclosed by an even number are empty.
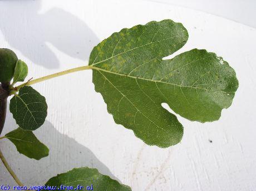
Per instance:
[[[0,140],[24,184],[42,185],[57,173],[88,166],[135,191],[255,190],[256,29],[183,7],[135,0],[0,1],[0,18],[1,47],[27,62],[29,78],[87,64],[92,47],[113,32],[170,18],[183,23],[190,35],[174,55],[205,48],[228,61],[239,79],[233,104],[220,120],[201,124],[179,117],[184,138],[168,149],[147,146],[114,123],[94,91],[91,71],[36,84],[47,98],[48,116],[35,134],[48,145],[50,156],[28,159],[11,142]],[[8,114],[3,134],[16,127]],[[2,164],[0,183],[15,185]]]

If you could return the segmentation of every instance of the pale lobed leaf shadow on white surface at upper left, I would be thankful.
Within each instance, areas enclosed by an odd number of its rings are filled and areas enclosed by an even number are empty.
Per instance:
[[[1,1],[4,6],[0,4],[0,31],[9,45],[46,68],[58,68],[60,64],[47,43],[73,58],[88,59],[93,46],[99,43],[95,33],[63,9],[40,13],[41,2]]]

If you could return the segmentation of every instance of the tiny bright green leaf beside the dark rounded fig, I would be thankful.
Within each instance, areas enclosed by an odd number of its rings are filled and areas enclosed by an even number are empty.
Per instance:
[[[18,60],[14,70],[13,84],[16,82],[23,82],[27,77],[28,67],[27,64],[21,60]]]

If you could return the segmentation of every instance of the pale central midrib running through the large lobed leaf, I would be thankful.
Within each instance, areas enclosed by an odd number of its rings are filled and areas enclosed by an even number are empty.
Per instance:
[[[111,73],[111,74],[115,74],[115,75],[119,75],[119,76],[125,76],[125,77],[129,77],[129,78],[134,78],[134,79],[143,79],[145,81],[150,81],[150,82],[154,82],[154,83],[164,83],[164,84],[169,84],[169,85],[172,85],[172,86],[178,86],[178,87],[181,87],[181,88],[193,88],[193,89],[201,89],[203,91],[209,91],[209,92],[220,92],[220,93],[234,93],[234,92],[224,92],[224,91],[214,91],[214,90],[211,90],[211,89],[204,89],[204,88],[198,88],[198,87],[192,87],[192,86],[181,86],[179,84],[174,84],[174,83],[169,83],[169,82],[163,82],[163,81],[154,81],[153,79],[147,79],[147,78],[141,78],[141,77],[135,77],[135,76],[129,76],[129,75],[126,75],[126,74],[120,74],[120,73],[116,73],[116,72],[111,72],[111,71],[107,71],[105,69],[102,69],[102,68],[97,68],[97,67],[91,67],[92,69],[95,69],[96,71],[103,71],[103,72],[106,72],[106,73]]]

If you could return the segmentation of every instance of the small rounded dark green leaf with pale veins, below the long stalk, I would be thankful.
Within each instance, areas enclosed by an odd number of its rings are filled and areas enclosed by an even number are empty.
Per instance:
[[[32,87],[25,86],[11,99],[10,111],[19,127],[24,130],[35,130],[45,122],[47,115],[45,97]]]

